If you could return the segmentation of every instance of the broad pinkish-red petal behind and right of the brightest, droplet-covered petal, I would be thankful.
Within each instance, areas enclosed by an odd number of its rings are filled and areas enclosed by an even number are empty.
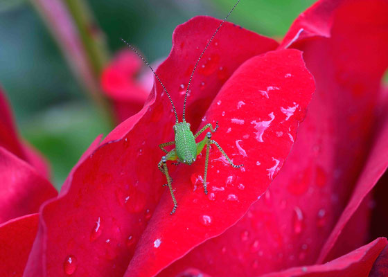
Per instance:
[[[326,2],[330,1],[319,3]],[[363,4],[366,15],[373,15],[376,3],[364,1]],[[384,7],[382,3],[380,8],[383,11]],[[240,222],[220,237],[193,249],[163,271],[165,276],[188,266],[221,276],[233,276],[243,269],[247,275],[253,276],[309,265],[317,260],[324,241],[351,196],[354,181],[364,166],[364,157],[369,154],[369,139],[374,131],[367,127],[375,120],[376,103],[381,96],[380,77],[387,66],[387,51],[369,55],[369,45],[383,41],[384,32],[370,36],[373,27],[365,28],[365,33],[360,28],[357,33],[353,29],[344,30],[343,26],[353,28],[358,24],[345,25],[342,17],[366,20],[358,15],[358,10],[344,6],[338,15],[340,19],[335,17],[330,39],[317,37],[300,46],[305,51],[307,66],[315,73],[317,93],[313,96],[306,120],[301,124],[290,157],[268,192],[252,205]],[[309,11],[314,10],[310,8]],[[305,12],[306,17],[310,17],[308,12]],[[346,12],[349,15],[344,16]],[[318,14],[313,12],[313,15]],[[378,30],[382,17],[377,15],[382,14],[385,12],[376,12],[376,17],[369,17],[376,19],[374,24]],[[353,42],[349,46],[351,51],[344,50],[344,45],[349,42]],[[340,56],[346,60],[338,62]],[[372,60],[367,62],[366,57]],[[341,79],[335,75],[336,71],[350,62],[352,67],[342,72],[343,79],[339,82]],[[360,66],[355,66],[358,62]],[[378,178],[378,175],[373,178]],[[360,213],[355,219],[362,224],[368,215]],[[358,226],[358,232],[353,229],[352,235],[346,233],[351,240],[347,245],[350,250],[358,247],[366,229],[364,224]]]

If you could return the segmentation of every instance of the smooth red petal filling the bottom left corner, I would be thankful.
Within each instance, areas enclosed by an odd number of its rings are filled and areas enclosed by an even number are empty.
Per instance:
[[[38,214],[0,224],[1,276],[22,276],[37,232]]]

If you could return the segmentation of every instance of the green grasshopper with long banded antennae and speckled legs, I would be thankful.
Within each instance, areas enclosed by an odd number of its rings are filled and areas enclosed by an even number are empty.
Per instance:
[[[166,155],[161,157],[161,161],[159,161],[159,163],[158,163],[159,170],[164,175],[166,175],[166,179],[167,179],[167,184],[164,184],[163,186],[168,186],[168,188],[170,190],[170,193],[171,193],[171,197],[173,198],[174,207],[173,207],[173,211],[170,212],[171,215],[173,215],[173,213],[175,213],[175,211],[177,210],[178,204],[177,204],[177,200],[175,199],[175,196],[174,196],[173,186],[171,186],[171,184],[173,182],[173,179],[171,179],[170,175],[168,174],[168,168],[167,168],[167,165],[166,165],[167,161],[177,161],[178,164],[179,163],[186,163],[187,165],[190,166],[193,162],[195,162],[196,157],[202,152],[202,150],[204,149],[204,147],[206,145],[206,159],[205,159],[204,183],[203,183],[204,184],[204,193],[206,195],[207,195],[206,175],[207,175],[207,168],[208,168],[208,164],[209,164],[209,151],[210,151],[210,145],[211,144],[214,144],[218,148],[218,150],[220,150],[222,155],[224,155],[224,157],[227,159],[227,161],[229,161],[229,163],[231,164],[231,166],[233,166],[233,168],[240,168],[241,166],[243,166],[242,164],[236,166],[233,163],[233,161],[231,161],[231,159],[229,159],[229,157],[224,152],[224,150],[222,150],[221,146],[216,141],[211,139],[211,133],[215,132],[218,129],[218,122],[215,123],[215,128],[213,128],[211,123],[208,123],[202,129],[200,129],[200,131],[197,132],[197,134],[193,134],[193,132],[191,132],[191,129],[190,129],[190,123],[187,123],[186,119],[185,119],[185,109],[186,109],[186,99],[187,99],[187,94],[188,94],[188,88],[190,87],[191,80],[193,78],[195,69],[197,68],[197,65],[200,62],[202,56],[204,55],[204,52],[206,51],[206,48],[208,48],[209,44],[211,44],[211,41],[215,37],[215,34],[218,33],[218,30],[220,30],[221,26],[227,20],[229,15],[231,15],[231,12],[233,12],[234,8],[236,8],[236,6],[237,6],[237,4],[239,2],[240,2],[240,0],[238,0],[236,2],[236,4],[233,6],[233,8],[231,8],[231,10],[229,11],[228,15],[224,18],[224,20],[222,21],[220,26],[218,26],[218,28],[215,30],[215,32],[213,33],[213,36],[211,37],[209,42],[206,44],[206,46],[204,48],[204,51],[202,51],[200,57],[197,60],[197,63],[194,66],[193,72],[191,73],[190,80],[188,81],[188,85],[187,85],[187,89],[186,89],[186,94],[184,96],[182,122],[179,122],[177,111],[175,109],[175,105],[173,103],[173,100],[171,99],[170,94],[168,93],[166,87],[164,87],[164,84],[159,79],[157,73],[155,73],[154,69],[152,69],[150,64],[148,64],[148,62],[139,54],[138,51],[136,51],[136,49],[134,47],[132,47],[127,42],[125,42],[124,39],[121,39],[151,69],[152,73],[154,73],[155,77],[157,78],[157,80],[161,84],[161,87],[163,87],[164,91],[166,91],[168,99],[170,100],[170,103],[173,106],[173,111],[174,111],[174,114],[175,114],[175,125],[173,126],[173,129],[174,129],[174,132],[175,132],[175,141],[170,141],[168,143],[161,143],[161,144],[159,144],[159,148],[163,152],[165,152]],[[197,139],[197,137],[200,134],[202,134],[202,132],[204,132],[208,128],[210,129],[211,132],[207,132],[206,136],[204,137],[204,139],[202,141],[196,143],[195,139]],[[168,151],[168,150],[164,149],[168,145],[175,145],[175,148],[173,150],[171,150],[171,151]]]

